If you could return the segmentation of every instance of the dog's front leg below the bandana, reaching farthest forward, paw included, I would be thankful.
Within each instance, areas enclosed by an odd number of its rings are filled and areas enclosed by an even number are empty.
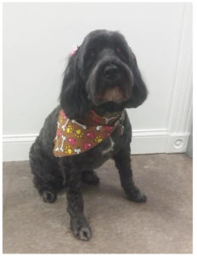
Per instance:
[[[67,211],[70,214],[70,228],[74,236],[88,241],[91,238],[91,230],[83,213],[81,177],[81,171],[76,168],[71,168],[66,173]]]

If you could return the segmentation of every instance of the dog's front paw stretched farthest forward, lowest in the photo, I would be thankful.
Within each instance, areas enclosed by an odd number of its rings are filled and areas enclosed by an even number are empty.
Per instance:
[[[81,219],[71,221],[71,230],[73,235],[82,241],[89,241],[92,236],[90,227],[86,222],[81,221]]]

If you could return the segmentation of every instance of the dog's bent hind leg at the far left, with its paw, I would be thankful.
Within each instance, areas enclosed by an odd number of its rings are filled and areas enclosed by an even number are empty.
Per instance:
[[[63,188],[63,177],[58,166],[43,154],[37,141],[31,146],[30,165],[33,183],[43,201],[52,203],[57,198],[57,192]]]

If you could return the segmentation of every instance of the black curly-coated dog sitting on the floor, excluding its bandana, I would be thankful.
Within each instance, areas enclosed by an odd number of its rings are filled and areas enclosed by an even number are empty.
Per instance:
[[[128,200],[146,201],[132,179],[132,127],[125,110],[137,108],[146,97],[147,89],[136,57],[121,33],[90,32],[70,56],[59,97],[60,106],[48,115],[31,146],[30,164],[33,182],[45,202],[55,201],[57,192],[66,189],[71,230],[82,240],[90,239],[91,230],[83,213],[81,183],[97,184],[99,180],[93,169],[104,161],[115,160]],[[109,119],[121,116],[121,121],[117,122],[110,137],[96,147],[82,154],[55,157],[54,138],[61,109],[69,119],[82,121],[93,110]]]

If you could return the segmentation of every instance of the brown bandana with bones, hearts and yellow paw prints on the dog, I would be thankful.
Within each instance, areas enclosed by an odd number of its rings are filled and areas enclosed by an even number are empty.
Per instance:
[[[99,116],[93,110],[83,119],[82,125],[75,119],[69,119],[63,110],[59,113],[56,137],[54,138],[53,154],[56,157],[82,154],[97,146],[111,133],[119,128],[123,134],[124,111],[115,117],[107,118]]]

